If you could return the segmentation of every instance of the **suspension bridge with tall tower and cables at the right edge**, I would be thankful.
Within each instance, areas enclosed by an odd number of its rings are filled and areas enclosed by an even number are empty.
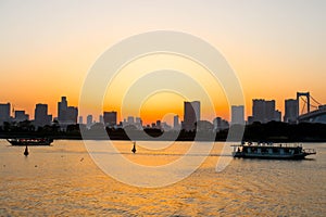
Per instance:
[[[297,92],[298,112],[300,110],[300,102],[303,101],[303,106],[298,116],[299,123],[323,123],[326,124],[326,105],[323,105],[315,100],[310,92]],[[313,102],[314,104],[312,104]],[[306,113],[304,113],[306,106]],[[314,108],[312,111],[312,108]]]

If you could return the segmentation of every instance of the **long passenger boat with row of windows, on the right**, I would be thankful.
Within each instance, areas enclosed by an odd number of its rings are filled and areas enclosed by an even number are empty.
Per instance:
[[[273,144],[244,142],[234,146],[233,156],[242,158],[302,159],[316,154],[313,149],[303,149],[302,144]]]

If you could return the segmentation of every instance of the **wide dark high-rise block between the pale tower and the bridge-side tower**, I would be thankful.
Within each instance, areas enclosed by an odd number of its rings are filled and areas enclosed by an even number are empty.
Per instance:
[[[268,123],[280,122],[280,112],[275,110],[275,100],[252,100],[251,122]]]

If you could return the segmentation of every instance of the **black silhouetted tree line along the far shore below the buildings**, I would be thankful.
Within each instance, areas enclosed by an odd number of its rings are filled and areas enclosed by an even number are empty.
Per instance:
[[[63,130],[59,123],[54,122],[51,126],[35,127],[32,122],[25,120],[21,123],[3,123],[0,127],[0,137],[51,137],[53,139],[108,139],[112,140],[178,140],[192,141],[209,140],[225,141],[229,129],[214,131],[213,126],[208,123],[198,125],[197,131],[162,131],[161,129],[145,128],[137,129],[135,126],[123,128],[104,127],[98,123],[86,128],[85,125],[68,125]],[[234,125],[231,128],[242,128],[239,125]],[[82,133],[83,132],[83,133]],[[83,137],[82,137],[83,135]],[[130,137],[130,138],[129,138]],[[230,138],[233,139],[233,138]],[[303,142],[303,141],[326,141],[326,125],[301,123],[298,125],[269,122],[267,124],[253,123],[244,127],[243,141],[260,141],[260,142]]]

